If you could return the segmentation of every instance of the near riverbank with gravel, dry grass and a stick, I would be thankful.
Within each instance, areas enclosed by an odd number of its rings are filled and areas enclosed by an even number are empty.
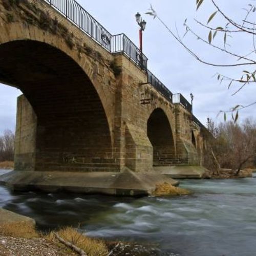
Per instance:
[[[17,224],[16,224],[17,225]],[[109,242],[84,236],[76,229],[67,227],[48,234],[37,232],[31,226],[20,226],[20,230],[1,227],[0,255],[79,255],[78,251],[88,256],[152,256],[159,255],[160,250],[150,244]],[[15,233],[16,232],[16,233]],[[7,236],[6,233],[12,234]],[[60,242],[59,239],[63,239]],[[64,242],[64,243],[63,243]],[[70,245],[75,249],[71,249]],[[175,254],[169,254],[174,255]]]

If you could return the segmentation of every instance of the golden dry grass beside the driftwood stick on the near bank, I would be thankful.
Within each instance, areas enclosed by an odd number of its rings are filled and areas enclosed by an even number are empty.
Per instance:
[[[58,231],[58,234],[65,241],[84,250],[89,256],[105,256],[109,254],[108,247],[103,241],[83,236],[82,233],[72,227],[62,228]],[[54,231],[48,234],[47,240],[59,243],[55,237]]]

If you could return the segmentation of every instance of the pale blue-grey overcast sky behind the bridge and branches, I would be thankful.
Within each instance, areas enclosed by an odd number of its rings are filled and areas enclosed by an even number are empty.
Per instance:
[[[246,0],[216,1],[230,17],[237,21],[245,16],[242,7],[246,7],[250,2]],[[125,33],[136,45],[138,45],[138,25],[135,22],[135,14],[140,12],[147,22],[143,34],[143,49],[144,54],[149,59],[148,68],[173,93],[182,93],[189,101],[189,94],[191,92],[194,94],[194,114],[203,124],[205,124],[207,117],[222,121],[223,117],[217,119],[220,110],[228,110],[237,104],[246,105],[256,101],[254,84],[246,86],[240,93],[231,96],[238,86],[227,90],[227,82],[220,85],[216,77],[212,78],[217,72],[239,78],[243,70],[252,71],[250,67],[219,68],[206,66],[189,55],[157,19],[144,14],[152,4],[158,15],[173,31],[176,31],[175,24],[177,24],[180,35],[184,34],[183,23],[187,18],[187,24],[207,40],[208,31],[196,25],[194,18],[203,23],[207,22],[209,15],[215,11],[209,0],[204,0],[205,3],[197,12],[196,0],[79,0],[78,2],[112,34]],[[255,16],[250,19],[254,21]],[[210,25],[225,27],[225,22],[217,14]],[[185,36],[184,42],[206,61],[214,63],[237,62],[229,55],[202,44],[191,33]],[[221,45],[222,42],[223,34],[217,34],[214,43]],[[247,54],[252,50],[252,38],[248,37],[247,39],[241,33],[235,34],[232,38],[228,37],[228,42],[231,45],[228,47],[230,51]],[[16,97],[19,94],[17,89],[0,84],[0,133],[5,129],[13,131],[15,129]],[[255,110],[256,106],[252,106],[241,111],[240,120],[253,116]]]

